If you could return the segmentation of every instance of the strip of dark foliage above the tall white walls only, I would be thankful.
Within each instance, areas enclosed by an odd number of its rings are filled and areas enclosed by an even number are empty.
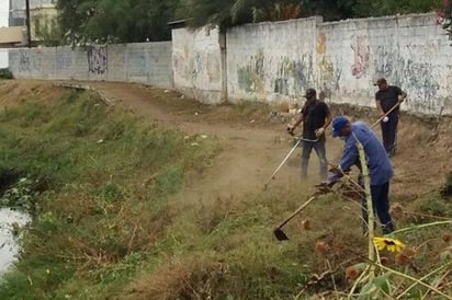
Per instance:
[[[181,1],[180,19],[189,25],[219,26],[221,30],[242,23],[281,21],[300,16],[321,15],[325,21],[382,16],[397,13],[429,12],[441,0],[185,0]]]

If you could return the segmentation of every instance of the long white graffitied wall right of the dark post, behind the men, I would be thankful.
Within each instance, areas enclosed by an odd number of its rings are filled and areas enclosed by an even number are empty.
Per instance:
[[[300,99],[314,86],[335,103],[374,106],[372,83],[386,77],[407,91],[403,109],[452,114],[452,48],[437,21],[429,13],[234,27],[226,34],[228,99]]]

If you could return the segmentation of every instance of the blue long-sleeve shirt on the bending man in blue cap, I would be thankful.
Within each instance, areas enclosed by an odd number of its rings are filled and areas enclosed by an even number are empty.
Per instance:
[[[375,132],[363,122],[355,122],[351,125],[351,132],[346,138],[339,168],[341,170],[349,170],[357,163],[357,161],[359,161],[357,139],[364,148],[371,185],[382,185],[387,183],[394,175],[389,158]],[[341,172],[336,175],[341,176]]]

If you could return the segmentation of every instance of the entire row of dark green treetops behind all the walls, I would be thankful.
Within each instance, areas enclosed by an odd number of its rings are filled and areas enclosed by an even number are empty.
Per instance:
[[[58,0],[61,43],[170,39],[168,22],[221,30],[250,22],[451,11],[448,0]],[[448,10],[449,9],[449,10]]]

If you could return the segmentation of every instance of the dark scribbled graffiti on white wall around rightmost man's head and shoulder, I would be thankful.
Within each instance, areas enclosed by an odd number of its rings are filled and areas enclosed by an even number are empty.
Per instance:
[[[392,84],[409,91],[408,101],[413,102],[416,109],[436,111],[432,100],[440,84],[438,77],[433,73],[434,66],[431,62],[406,59],[398,48],[385,46],[377,47],[375,57],[375,78],[385,77]]]

